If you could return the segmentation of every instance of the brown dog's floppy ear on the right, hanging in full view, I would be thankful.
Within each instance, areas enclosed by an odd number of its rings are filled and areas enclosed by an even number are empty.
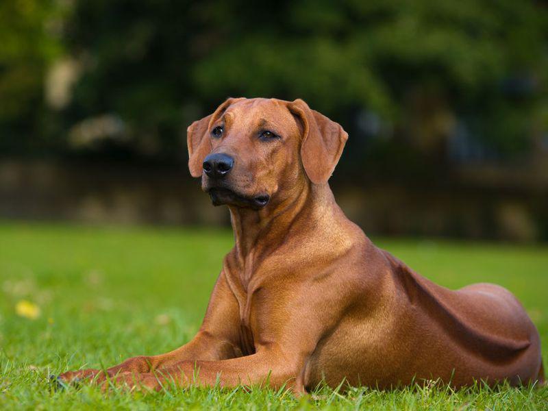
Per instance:
[[[306,175],[314,184],[323,184],[331,177],[348,134],[338,123],[311,110],[301,99],[289,103],[288,108],[303,125],[301,160]]]

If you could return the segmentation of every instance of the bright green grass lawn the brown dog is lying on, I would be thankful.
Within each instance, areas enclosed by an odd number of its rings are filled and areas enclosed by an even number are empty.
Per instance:
[[[416,271],[457,288],[496,282],[523,301],[548,362],[548,247],[377,240]],[[548,388],[453,392],[427,386],[312,397],[267,388],[55,391],[47,375],[171,350],[197,331],[232,233],[214,229],[0,225],[0,409],[548,409]],[[16,314],[27,300],[40,316]]]

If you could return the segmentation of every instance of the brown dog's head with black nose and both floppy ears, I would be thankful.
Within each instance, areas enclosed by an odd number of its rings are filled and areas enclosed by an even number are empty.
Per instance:
[[[227,99],[187,129],[188,168],[214,205],[260,209],[325,184],[348,134],[297,99]]]

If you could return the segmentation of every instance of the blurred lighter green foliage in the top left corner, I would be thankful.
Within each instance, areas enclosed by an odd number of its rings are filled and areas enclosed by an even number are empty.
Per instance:
[[[53,0],[0,2],[0,152],[36,148],[50,62],[62,54],[62,5]]]

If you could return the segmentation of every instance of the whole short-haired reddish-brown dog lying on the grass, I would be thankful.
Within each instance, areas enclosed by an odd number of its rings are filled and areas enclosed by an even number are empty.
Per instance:
[[[219,379],[297,392],[322,379],[379,388],[543,382],[538,332],[508,290],[438,286],[346,218],[327,184],[346,140],[302,100],[228,99],[188,127],[190,173],[215,205],[227,204],[236,244],[197,336],[114,366],[114,382],[157,389],[166,379]],[[60,378],[89,376],[105,379],[97,370]]]

